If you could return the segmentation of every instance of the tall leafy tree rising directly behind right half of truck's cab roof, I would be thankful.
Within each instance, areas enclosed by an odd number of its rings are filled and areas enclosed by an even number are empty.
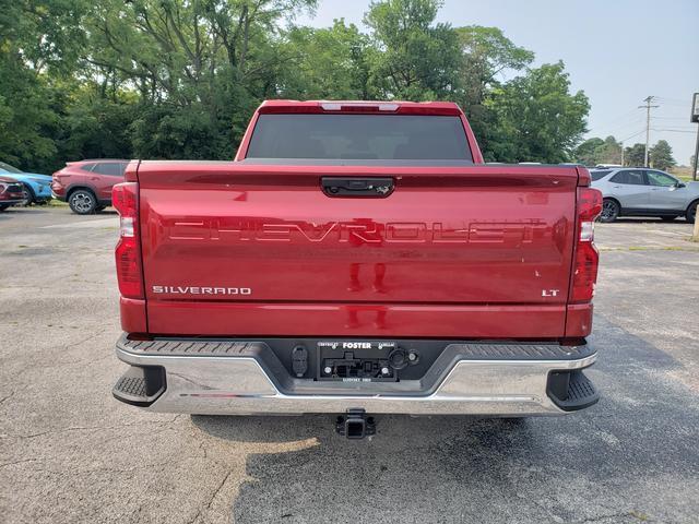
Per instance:
[[[449,24],[435,23],[437,0],[371,2],[364,22],[371,29],[369,84],[379,98],[431,100],[457,91],[461,51]]]

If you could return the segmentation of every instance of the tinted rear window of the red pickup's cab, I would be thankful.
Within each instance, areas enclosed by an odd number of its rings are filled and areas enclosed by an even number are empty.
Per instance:
[[[473,162],[459,117],[260,115],[247,158]]]

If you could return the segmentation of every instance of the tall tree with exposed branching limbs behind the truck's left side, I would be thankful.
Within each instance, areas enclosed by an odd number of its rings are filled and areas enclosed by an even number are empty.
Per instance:
[[[105,0],[88,17],[95,76],[137,86],[137,156],[229,158],[254,107],[293,59],[284,13],[316,0]]]

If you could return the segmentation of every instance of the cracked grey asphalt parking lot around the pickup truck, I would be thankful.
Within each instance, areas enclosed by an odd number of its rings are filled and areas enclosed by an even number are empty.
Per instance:
[[[118,403],[114,213],[0,214],[0,521],[699,522],[699,245],[601,225],[603,393],[521,422],[189,417]]]

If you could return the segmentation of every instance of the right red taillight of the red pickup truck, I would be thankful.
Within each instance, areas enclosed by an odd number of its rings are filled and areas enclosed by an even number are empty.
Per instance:
[[[594,221],[602,213],[602,193],[592,188],[578,188],[578,238],[573,264],[571,302],[589,302],[597,282],[600,253],[594,247]]]

